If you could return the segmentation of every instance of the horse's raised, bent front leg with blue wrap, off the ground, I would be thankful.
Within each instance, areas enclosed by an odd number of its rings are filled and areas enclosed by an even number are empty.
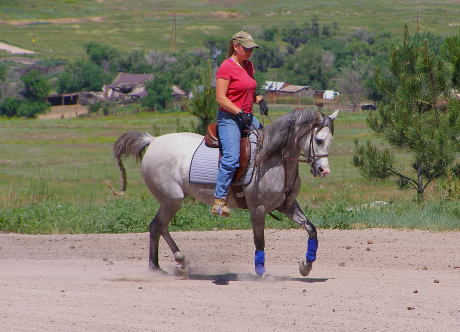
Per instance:
[[[307,253],[305,255],[305,261],[302,261],[298,267],[299,272],[303,276],[307,276],[312,268],[312,263],[316,260],[316,249],[318,248],[318,238],[316,234],[316,227],[307,219],[302,212],[300,206],[298,206],[297,200],[294,200],[287,207],[278,208],[282,214],[289,217],[296,224],[301,225],[308,233],[308,245]]]

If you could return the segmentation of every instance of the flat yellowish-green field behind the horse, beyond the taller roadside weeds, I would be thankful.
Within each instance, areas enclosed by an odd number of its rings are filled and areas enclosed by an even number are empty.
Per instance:
[[[293,107],[274,107],[273,118]],[[126,111],[129,113],[129,109]],[[112,145],[130,130],[149,132],[154,126],[161,134],[175,132],[180,126],[190,127],[193,117],[187,113],[154,115],[123,114],[119,116],[73,118],[60,120],[0,120],[0,202],[5,205],[12,192],[19,193],[28,179],[48,170],[52,182],[49,194],[62,200],[102,200],[109,192],[105,181],[115,188],[121,186],[121,173],[112,156]],[[267,120],[268,121],[268,120]],[[372,138],[365,126],[364,113],[342,112],[336,119],[335,137],[330,149],[331,174],[324,179],[314,178],[309,166],[300,165],[302,176],[301,199],[309,205],[331,200],[334,193],[346,184],[352,186],[358,200],[389,200],[410,197],[400,192],[392,182],[372,185],[363,181],[350,165],[353,139]],[[150,197],[140,174],[139,165],[128,159],[126,197]]]

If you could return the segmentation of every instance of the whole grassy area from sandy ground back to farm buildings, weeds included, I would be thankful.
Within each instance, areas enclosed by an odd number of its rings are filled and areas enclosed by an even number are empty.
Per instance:
[[[294,108],[269,107],[273,119]],[[179,112],[132,115],[130,107],[119,108],[117,114],[59,120],[0,119],[0,231],[146,232],[158,203],[147,190],[139,165],[130,159],[125,160],[126,193],[120,198],[110,194],[106,181],[114,189],[121,189],[121,173],[112,156],[112,144],[130,130],[151,134],[158,130],[160,134],[176,132],[178,126],[190,127],[193,117]],[[356,137],[379,143],[365,125],[365,113],[344,111],[335,120],[329,151],[331,174],[323,179],[314,178],[309,166],[300,165],[302,188],[298,201],[314,224],[322,228],[460,229],[460,200],[440,199],[435,184],[426,192],[427,199],[418,204],[412,200],[413,192],[401,192],[391,181],[365,182],[350,165]],[[409,174],[409,157],[403,151],[395,154]],[[361,207],[374,201],[390,205],[377,209]],[[251,227],[245,211],[233,211],[226,219],[212,216],[210,210],[193,198],[186,199],[171,223],[171,230]],[[296,225],[286,217],[281,221],[267,217],[266,227]]]

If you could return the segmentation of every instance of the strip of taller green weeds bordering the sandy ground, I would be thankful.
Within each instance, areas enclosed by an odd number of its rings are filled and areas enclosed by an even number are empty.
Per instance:
[[[41,203],[0,208],[0,231],[21,234],[143,233],[156,211],[153,198],[110,198],[103,202]],[[289,229],[298,226],[284,215],[277,221],[267,215],[266,228]],[[388,205],[365,204],[352,207],[347,201],[333,200],[306,209],[307,218],[318,228],[407,228],[431,231],[460,230],[460,201],[429,200],[422,204],[394,201]],[[211,215],[211,207],[188,198],[170,223],[170,231],[211,231],[250,229],[249,213],[232,210],[231,217]]]

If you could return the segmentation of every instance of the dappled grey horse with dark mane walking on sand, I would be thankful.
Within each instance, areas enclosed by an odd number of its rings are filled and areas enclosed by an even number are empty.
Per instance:
[[[330,173],[328,151],[334,131],[333,121],[339,110],[326,116],[319,111],[296,110],[289,112],[262,131],[254,134],[260,140],[257,155],[250,161],[254,167],[252,181],[243,186],[254,235],[255,271],[263,278],[270,277],[265,270],[265,216],[274,210],[289,217],[308,233],[306,260],[299,271],[307,276],[316,259],[317,233],[315,226],[307,219],[295,199],[300,192],[301,180],[298,163],[311,166],[311,174],[325,177]],[[159,202],[159,209],[149,224],[149,268],[163,272],[158,264],[158,242],[163,236],[172,250],[176,265],[174,274],[187,277],[185,255],[172,239],[168,225],[179,211],[181,202],[190,195],[212,206],[213,185],[189,182],[189,171],[194,151],[203,141],[203,136],[194,133],[172,133],[152,137],[148,133],[127,132],[113,145],[113,154],[122,172],[123,189],[127,186],[123,158],[133,157],[141,163],[141,173],[150,192]],[[305,160],[299,159],[301,151]],[[228,203],[231,209],[242,209],[233,190],[229,189]]]

